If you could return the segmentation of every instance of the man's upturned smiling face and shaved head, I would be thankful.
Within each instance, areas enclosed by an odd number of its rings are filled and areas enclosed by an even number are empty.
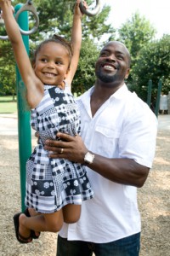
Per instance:
[[[96,76],[105,84],[122,84],[129,73],[129,61],[130,56],[124,44],[110,42],[99,54],[95,67]]]

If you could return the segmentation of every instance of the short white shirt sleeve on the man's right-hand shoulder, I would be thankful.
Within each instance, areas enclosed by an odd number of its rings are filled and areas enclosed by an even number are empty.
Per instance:
[[[147,106],[141,108],[136,108],[122,126],[119,157],[151,167],[156,148],[157,119]]]

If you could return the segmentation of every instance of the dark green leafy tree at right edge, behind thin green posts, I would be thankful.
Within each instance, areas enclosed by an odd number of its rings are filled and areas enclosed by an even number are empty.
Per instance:
[[[133,81],[135,91],[146,100],[146,90],[149,80],[153,83],[153,97],[156,98],[157,84],[162,80],[162,92],[170,91],[170,35],[164,35],[160,40],[146,44],[139,51],[139,57],[133,66]],[[141,91],[143,93],[141,94]]]

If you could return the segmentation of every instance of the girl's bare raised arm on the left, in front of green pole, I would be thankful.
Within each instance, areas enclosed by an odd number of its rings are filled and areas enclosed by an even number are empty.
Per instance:
[[[20,75],[26,84],[27,101],[30,107],[34,108],[42,99],[43,84],[37,79],[37,76],[31,67],[31,61],[29,60],[25,45],[23,44],[19,26],[12,13],[11,1],[0,0],[0,8],[3,10],[3,20],[8,33],[8,38],[12,44],[15,61],[19,67]]]

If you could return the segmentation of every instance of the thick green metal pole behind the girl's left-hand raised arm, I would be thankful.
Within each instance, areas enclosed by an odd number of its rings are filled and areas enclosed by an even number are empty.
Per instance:
[[[15,13],[23,4],[19,3],[15,6]],[[20,28],[27,31],[28,12],[22,12],[18,19]],[[22,35],[26,51],[29,55],[29,37]],[[20,195],[21,210],[25,210],[26,195],[26,160],[31,155],[31,126],[30,126],[30,110],[26,102],[26,86],[21,79],[18,67],[16,67],[16,84],[17,84],[17,107],[18,107],[18,134],[19,134],[19,156],[20,156]]]

